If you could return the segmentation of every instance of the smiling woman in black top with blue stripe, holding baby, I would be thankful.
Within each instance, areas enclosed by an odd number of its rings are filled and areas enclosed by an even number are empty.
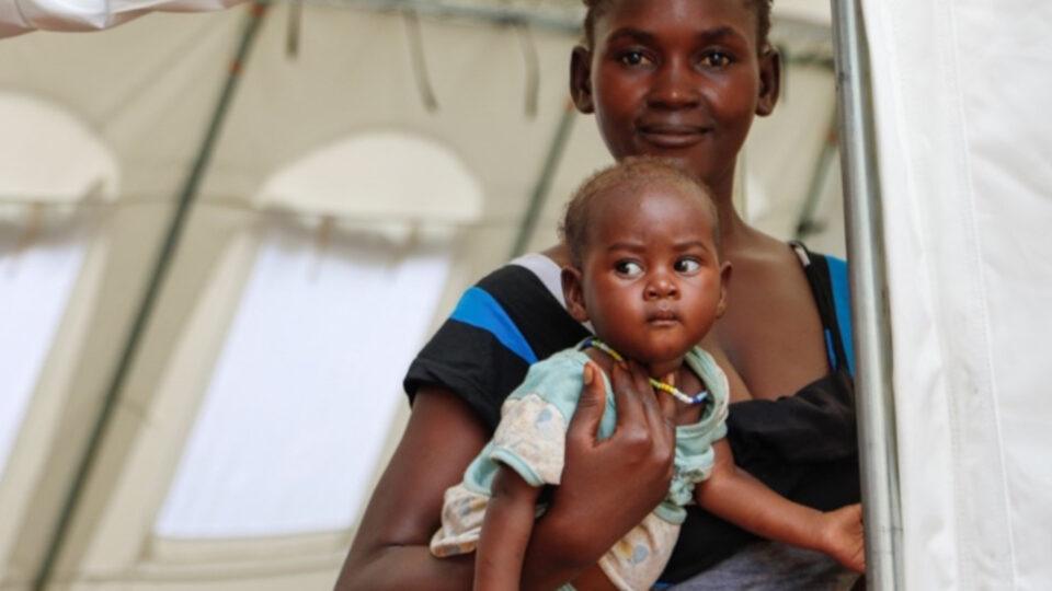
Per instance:
[[[740,401],[729,424],[734,455],[782,495],[827,509],[857,500],[858,493],[849,339],[841,338],[831,290],[823,287],[826,262],[816,257],[804,267],[807,253],[750,228],[732,202],[734,166],[753,117],[769,114],[778,97],[769,9],[769,0],[592,2],[585,42],[571,56],[571,93],[579,111],[595,114],[614,158],[672,159],[712,189],[734,271],[727,314],[706,346],[732,375],[732,399]],[[499,269],[465,293],[421,351],[405,381],[409,425],[338,587],[470,584],[472,557],[433,559],[427,542],[443,493],[489,439],[501,401],[528,363],[586,335],[545,287],[545,277],[565,263],[565,248],[556,246]],[[614,387],[630,418],[596,441],[602,394],[582,393],[562,484],[527,548],[525,588],[567,581],[587,588],[599,556],[667,490],[670,405],[655,398],[641,371]],[[695,575],[751,540],[693,512],[665,580]]]

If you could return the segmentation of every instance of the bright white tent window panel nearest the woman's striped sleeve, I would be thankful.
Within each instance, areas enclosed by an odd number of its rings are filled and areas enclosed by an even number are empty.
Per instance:
[[[382,240],[315,242],[283,224],[265,232],[159,513],[159,536],[354,525],[368,494],[362,483],[373,477],[402,404],[370,393],[398,389],[445,286],[449,248],[448,241],[411,252]],[[402,338],[382,337],[390,334]]]

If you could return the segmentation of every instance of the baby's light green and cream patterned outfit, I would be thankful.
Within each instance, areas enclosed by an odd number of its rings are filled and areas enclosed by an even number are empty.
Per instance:
[[[578,407],[587,361],[583,351],[565,349],[529,368],[526,380],[504,402],[493,439],[468,466],[464,482],[446,490],[442,529],[431,541],[435,556],[474,551],[500,464],[533,486],[560,483],[567,427]],[[712,357],[698,348],[687,352],[686,363],[711,398],[697,422],[676,427],[675,473],[668,496],[599,560],[618,589],[649,589],[658,580],[686,519],[683,506],[691,502],[694,485],[712,471],[712,443],[727,434],[727,376]],[[606,409],[599,439],[610,437],[617,425],[614,393],[605,375],[604,384]],[[544,509],[538,507],[538,515]]]

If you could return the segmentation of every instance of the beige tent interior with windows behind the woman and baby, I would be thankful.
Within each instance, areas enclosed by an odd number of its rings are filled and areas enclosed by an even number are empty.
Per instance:
[[[330,587],[408,360],[608,162],[581,7],[18,4],[5,35],[108,28],[0,40],[0,588]],[[740,198],[843,253],[815,5],[778,8]]]

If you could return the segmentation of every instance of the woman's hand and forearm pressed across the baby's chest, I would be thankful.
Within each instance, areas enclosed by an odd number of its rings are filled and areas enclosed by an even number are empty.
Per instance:
[[[541,575],[530,565],[552,560],[562,565],[556,570],[563,573],[593,565],[668,493],[675,401],[659,397],[639,364],[615,364],[610,373],[617,425],[609,438],[599,440],[606,406],[603,376],[595,363],[585,367],[581,399],[567,431],[562,482],[530,540],[524,588],[565,582],[553,578],[556,571]]]

